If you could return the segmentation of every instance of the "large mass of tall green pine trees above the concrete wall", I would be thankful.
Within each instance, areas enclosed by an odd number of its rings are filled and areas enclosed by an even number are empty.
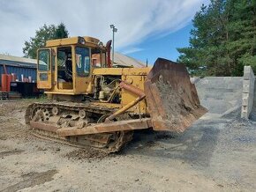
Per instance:
[[[194,16],[190,46],[177,48],[192,75],[242,76],[256,71],[256,0],[212,0]]]

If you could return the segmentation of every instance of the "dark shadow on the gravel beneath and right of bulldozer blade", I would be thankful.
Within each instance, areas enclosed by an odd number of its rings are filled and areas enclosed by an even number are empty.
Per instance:
[[[179,159],[197,166],[208,166],[223,127],[223,120],[200,120],[182,134],[137,131],[132,144],[122,153]]]

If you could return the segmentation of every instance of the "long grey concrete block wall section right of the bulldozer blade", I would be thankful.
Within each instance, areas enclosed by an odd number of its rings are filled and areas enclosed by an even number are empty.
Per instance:
[[[243,77],[195,77],[191,81],[208,113],[225,114],[230,109],[241,108]]]

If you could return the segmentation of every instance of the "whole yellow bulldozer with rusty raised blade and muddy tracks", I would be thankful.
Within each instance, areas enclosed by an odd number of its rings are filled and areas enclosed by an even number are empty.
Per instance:
[[[37,87],[48,101],[26,108],[37,137],[119,151],[136,129],[183,132],[207,110],[181,63],[117,68],[111,41],[92,37],[47,41],[37,53]]]

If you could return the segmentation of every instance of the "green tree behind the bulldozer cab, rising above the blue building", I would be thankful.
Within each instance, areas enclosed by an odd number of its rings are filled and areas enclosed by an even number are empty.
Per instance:
[[[35,36],[31,37],[29,41],[25,41],[25,47],[23,48],[23,54],[25,57],[36,58],[36,52],[38,48],[43,48],[46,41],[56,40],[68,37],[68,31],[64,26],[64,23],[55,25],[43,25],[39,30],[35,31]]]

